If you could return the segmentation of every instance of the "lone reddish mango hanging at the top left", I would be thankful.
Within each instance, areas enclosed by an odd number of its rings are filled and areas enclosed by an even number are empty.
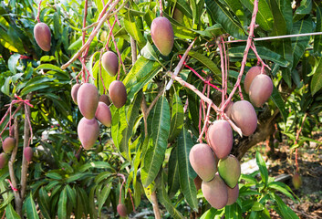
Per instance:
[[[34,36],[36,44],[44,51],[50,50],[51,33],[49,26],[45,23],[38,23],[34,27]]]

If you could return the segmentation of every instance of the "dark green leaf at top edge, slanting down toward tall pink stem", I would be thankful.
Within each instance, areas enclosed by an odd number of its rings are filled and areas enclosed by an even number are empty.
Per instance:
[[[206,9],[213,24],[219,23],[223,29],[235,38],[246,38],[244,28],[233,12],[227,10],[219,0],[205,0]]]

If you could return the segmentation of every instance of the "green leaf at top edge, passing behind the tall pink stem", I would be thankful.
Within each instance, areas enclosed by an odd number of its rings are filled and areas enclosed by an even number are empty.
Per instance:
[[[252,0],[240,0],[242,4],[253,13],[254,1]],[[258,2],[258,12],[256,16],[256,23],[264,30],[271,30],[273,28],[273,14],[266,1]]]

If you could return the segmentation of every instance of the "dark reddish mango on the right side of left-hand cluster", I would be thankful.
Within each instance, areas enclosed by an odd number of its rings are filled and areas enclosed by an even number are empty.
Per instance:
[[[124,84],[119,80],[114,80],[109,85],[109,97],[116,108],[121,108],[127,101],[127,91]]]

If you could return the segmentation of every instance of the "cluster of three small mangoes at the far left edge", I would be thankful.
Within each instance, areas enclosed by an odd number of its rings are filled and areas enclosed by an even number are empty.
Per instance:
[[[9,160],[9,154],[14,150],[16,146],[16,139],[13,137],[5,138],[5,141],[2,144],[3,152],[0,153],[0,169],[4,168],[6,163]],[[27,162],[31,162],[33,159],[33,149],[27,146],[24,149],[24,156]]]

